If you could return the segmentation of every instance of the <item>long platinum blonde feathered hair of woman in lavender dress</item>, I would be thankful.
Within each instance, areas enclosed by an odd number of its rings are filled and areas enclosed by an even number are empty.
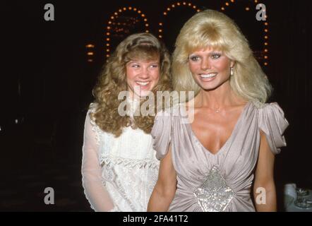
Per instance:
[[[188,67],[188,56],[206,47],[222,51],[235,62],[230,85],[236,95],[257,106],[268,100],[272,87],[253,57],[248,40],[232,19],[213,10],[196,13],[184,24],[176,39],[172,57],[174,90],[198,94],[200,86],[194,81]]]

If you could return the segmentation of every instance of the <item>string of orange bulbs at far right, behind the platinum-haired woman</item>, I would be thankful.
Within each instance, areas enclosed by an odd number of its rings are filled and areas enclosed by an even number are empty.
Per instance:
[[[221,6],[221,11],[225,11],[229,6],[231,6],[231,4],[233,5],[234,4],[234,0],[229,0],[229,1],[225,1],[224,4],[222,4]],[[256,8],[256,5],[258,4],[258,0],[253,0],[253,4],[255,4],[255,8]],[[249,6],[246,6],[245,7],[245,10],[246,11],[250,11],[251,8],[249,8]],[[268,19],[268,15],[265,15],[265,19]],[[263,64],[264,66],[268,66],[268,52],[269,52],[269,49],[268,49],[268,25],[269,23],[267,22],[267,20],[263,20],[263,58],[264,58],[264,61],[263,61]]]

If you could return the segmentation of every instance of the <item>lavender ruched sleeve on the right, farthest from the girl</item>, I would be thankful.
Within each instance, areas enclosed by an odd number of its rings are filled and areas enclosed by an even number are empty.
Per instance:
[[[259,129],[265,133],[272,153],[280,153],[280,148],[286,146],[283,133],[289,125],[283,110],[276,102],[270,103],[259,109],[258,119]]]

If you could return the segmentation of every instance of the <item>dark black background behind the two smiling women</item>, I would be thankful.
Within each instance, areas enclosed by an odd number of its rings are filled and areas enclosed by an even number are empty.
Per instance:
[[[0,210],[90,211],[81,186],[83,123],[92,87],[106,60],[107,22],[122,7],[139,8],[148,29],[172,51],[181,26],[195,11],[177,1],[20,1],[1,4]],[[183,1],[180,1],[181,4]],[[200,9],[220,10],[226,1],[186,1]],[[238,23],[253,51],[263,49],[263,23],[253,1],[230,3],[224,13]],[[54,21],[44,20],[53,4]],[[271,102],[284,109],[290,126],[287,147],[276,157],[275,180],[282,209],[282,188],[293,182],[312,189],[311,25],[309,1],[259,1],[268,13],[268,74]],[[246,6],[250,11],[244,10]],[[135,13],[123,14],[126,21]],[[138,22],[112,36],[110,51],[126,35],[144,32]],[[87,56],[86,44],[94,44]],[[92,62],[88,62],[92,59]],[[54,189],[55,204],[44,204],[44,189]]]

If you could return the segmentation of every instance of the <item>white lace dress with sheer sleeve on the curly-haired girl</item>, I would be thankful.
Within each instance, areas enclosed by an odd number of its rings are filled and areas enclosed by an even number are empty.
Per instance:
[[[160,162],[150,134],[126,127],[118,138],[85,119],[82,175],[85,196],[95,211],[148,208]]]

